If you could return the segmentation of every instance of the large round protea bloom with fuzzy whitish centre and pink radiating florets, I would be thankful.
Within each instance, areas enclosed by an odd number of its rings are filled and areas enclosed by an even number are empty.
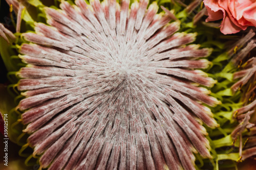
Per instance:
[[[202,123],[218,127],[206,105],[220,102],[200,59],[211,49],[162,8],[61,1],[21,35],[16,109],[41,168],[190,170],[193,153],[212,158]]]

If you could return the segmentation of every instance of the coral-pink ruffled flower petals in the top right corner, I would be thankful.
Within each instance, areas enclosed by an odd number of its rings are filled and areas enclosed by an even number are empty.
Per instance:
[[[233,34],[256,27],[256,0],[204,0],[208,21],[222,19],[221,32]]]

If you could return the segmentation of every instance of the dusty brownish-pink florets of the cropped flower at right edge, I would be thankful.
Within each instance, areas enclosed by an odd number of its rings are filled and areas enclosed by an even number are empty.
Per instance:
[[[250,31],[248,35],[252,33]],[[240,51],[233,59],[234,65],[240,64],[240,71],[234,72],[233,79],[239,79],[236,83],[231,86],[232,91],[241,90],[244,91],[241,101],[243,107],[239,108],[234,112],[234,118],[237,118],[240,123],[231,133],[231,137],[236,140],[239,139],[239,155],[241,160],[245,160],[256,154],[256,127],[253,123],[250,123],[250,117],[255,113],[256,100],[255,100],[255,89],[256,89],[256,58],[251,57],[244,61],[244,57],[250,52],[256,43],[253,40],[249,41],[248,44]],[[243,65],[241,65],[243,63]],[[249,134],[243,135],[245,129],[250,131]],[[243,144],[243,137],[246,139]],[[244,151],[243,151],[244,149]]]

